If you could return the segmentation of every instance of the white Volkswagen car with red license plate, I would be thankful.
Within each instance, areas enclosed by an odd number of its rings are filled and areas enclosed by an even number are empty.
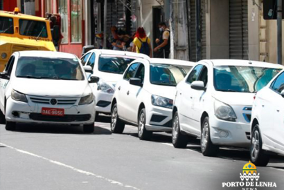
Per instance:
[[[82,124],[94,131],[95,100],[80,59],[68,53],[13,53],[0,74],[0,120],[16,123]]]

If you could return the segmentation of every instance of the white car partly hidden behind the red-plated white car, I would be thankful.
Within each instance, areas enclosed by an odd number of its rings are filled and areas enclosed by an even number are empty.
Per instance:
[[[116,82],[123,77],[127,66],[139,58],[149,57],[139,53],[97,49],[90,50],[81,58],[84,68],[100,78],[97,84],[91,84],[96,97],[96,117],[98,113],[110,114]]]

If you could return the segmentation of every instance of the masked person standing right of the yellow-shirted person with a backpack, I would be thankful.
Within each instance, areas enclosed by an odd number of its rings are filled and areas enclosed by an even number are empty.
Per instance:
[[[170,29],[166,23],[161,22],[158,24],[161,35],[159,39],[156,39],[158,46],[154,48],[154,53],[157,53],[159,58],[167,58],[170,55]]]

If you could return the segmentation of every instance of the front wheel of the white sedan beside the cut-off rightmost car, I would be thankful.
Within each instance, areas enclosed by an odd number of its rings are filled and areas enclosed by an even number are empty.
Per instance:
[[[204,156],[214,156],[218,151],[218,146],[214,145],[211,142],[210,136],[210,125],[209,125],[209,117],[205,117],[202,123],[202,134],[201,134],[201,151]]]

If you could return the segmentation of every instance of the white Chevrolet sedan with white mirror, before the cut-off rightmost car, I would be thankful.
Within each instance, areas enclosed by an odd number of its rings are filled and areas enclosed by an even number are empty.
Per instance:
[[[177,85],[172,144],[184,148],[188,136],[200,137],[203,155],[218,146],[249,147],[254,95],[283,66],[259,61],[204,60]]]

